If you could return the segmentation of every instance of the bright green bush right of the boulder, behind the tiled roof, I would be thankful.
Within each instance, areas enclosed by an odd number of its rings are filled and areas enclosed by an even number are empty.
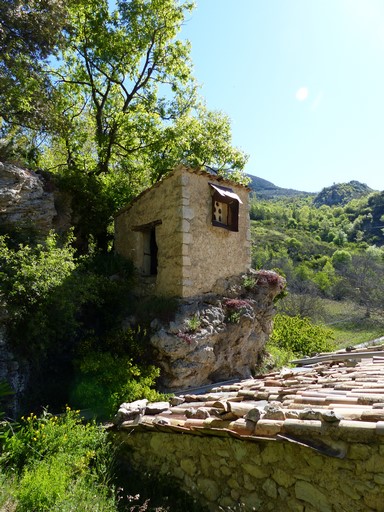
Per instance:
[[[315,325],[308,318],[283,314],[275,316],[270,338],[272,345],[293,352],[295,356],[330,351],[334,348],[332,340],[331,329]]]

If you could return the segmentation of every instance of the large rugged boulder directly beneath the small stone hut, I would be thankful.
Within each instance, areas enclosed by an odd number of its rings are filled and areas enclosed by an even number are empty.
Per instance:
[[[161,385],[174,391],[251,376],[272,331],[285,280],[272,271],[220,279],[212,293],[180,300],[174,321],[152,322]]]

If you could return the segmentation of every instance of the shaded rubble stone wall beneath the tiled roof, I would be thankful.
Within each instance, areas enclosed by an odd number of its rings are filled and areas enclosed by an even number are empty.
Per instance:
[[[384,444],[352,443],[343,459],[289,442],[162,432],[119,432],[138,470],[211,511],[384,511]]]

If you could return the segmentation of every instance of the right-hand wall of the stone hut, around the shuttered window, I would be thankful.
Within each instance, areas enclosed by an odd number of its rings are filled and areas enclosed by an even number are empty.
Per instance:
[[[190,190],[186,213],[191,218],[189,234],[183,240],[188,265],[184,296],[189,297],[211,291],[219,278],[246,272],[251,266],[251,242],[248,190],[231,185],[243,204],[239,208],[239,231],[229,231],[212,225],[212,189],[208,183],[215,180],[193,173],[186,177]]]

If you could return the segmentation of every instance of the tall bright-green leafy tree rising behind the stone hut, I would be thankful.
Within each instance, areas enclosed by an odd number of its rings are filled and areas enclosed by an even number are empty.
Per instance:
[[[189,43],[176,40],[191,9],[119,0],[112,11],[107,0],[88,0],[70,11],[61,65],[52,70],[61,132],[40,163],[75,197],[84,240],[93,234],[106,247],[113,212],[178,163],[222,173],[245,164],[228,118],[198,97]]]

